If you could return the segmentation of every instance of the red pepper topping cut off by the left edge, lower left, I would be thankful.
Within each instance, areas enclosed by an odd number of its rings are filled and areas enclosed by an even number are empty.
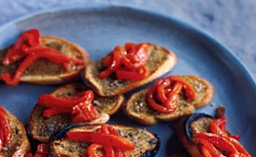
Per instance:
[[[0,150],[4,149],[4,145],[9,145],[12,137],[11,128],[7,118],[7,112],[0,107]]]

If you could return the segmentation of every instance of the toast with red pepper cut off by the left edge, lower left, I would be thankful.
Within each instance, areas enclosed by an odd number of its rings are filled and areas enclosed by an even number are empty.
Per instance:
[[[30,143],[23,124],[0,106],[0,156],[24,156]]]

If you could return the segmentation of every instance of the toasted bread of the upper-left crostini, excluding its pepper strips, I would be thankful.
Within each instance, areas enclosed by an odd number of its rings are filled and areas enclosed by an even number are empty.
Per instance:
[[[80,72],[84,70],[91,59],[89,54],[81,47],[63,38],[41,36],[43,46],[49,46],[64,53],[67,57],[84,60],[84,65],[71,65],[71,72],[66,72],[63,65],[51,62],[48,59],[38,59],[31,64],[21,76],[21,82],[37,85],[56,85],[78,80]],[[7,48],[0,50],[0,60],[7,54]],[[14,73],[21,62],[5,66],[0,62],[0,73]],[[1,80],[1,75],[0,75]]]

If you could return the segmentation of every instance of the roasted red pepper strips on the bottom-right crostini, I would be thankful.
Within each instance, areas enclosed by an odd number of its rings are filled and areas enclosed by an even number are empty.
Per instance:
[[[210,132],[199,132],[193,135],[198,141],[204,157],[242,156],[250,157],[249,152],[238,142],[240,137],[230,135],[226,130],[226,118],[213,120],[209,125]]]

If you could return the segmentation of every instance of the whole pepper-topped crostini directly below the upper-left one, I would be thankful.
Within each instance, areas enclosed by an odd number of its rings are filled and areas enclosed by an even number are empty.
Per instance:
[[[47,142],[54,132],[69,124],[105,124],[110,115],[119,111],[123,99],[122,95],[98,96],[83,83],[61,85],[50,94],[39,96],[30,115],[28,134]],[[83,111],[88,113],[81,114]]]

